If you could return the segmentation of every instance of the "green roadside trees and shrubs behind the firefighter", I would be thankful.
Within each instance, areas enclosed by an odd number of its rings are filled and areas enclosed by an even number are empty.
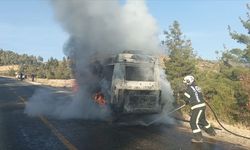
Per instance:
[[[247,6],[247,10],[250,8]],[[249,14],[249,12],[247,12]],[[250,16],[240,19],[243,27],[250,31]],[[216,62],[198,58],[192,48],[191,40],[186,39],[177,21],[164,32],[162,42],[168,50],[165,60],[167,78],[174,90],[176,103],[183,103],[185,85],[183,77],[193,75],[203,89],[205,99],[214,108],[219,118],[228,123],[250,124],[250,36],[247,32],[232,32],[232,40],[245,48],[233,48],[216,52],[220,57]],[[187,111],[188,109],[186,109]],[[185,109],[183,113],[186,113]],[[212,115],[209,113],[209,115]]]

